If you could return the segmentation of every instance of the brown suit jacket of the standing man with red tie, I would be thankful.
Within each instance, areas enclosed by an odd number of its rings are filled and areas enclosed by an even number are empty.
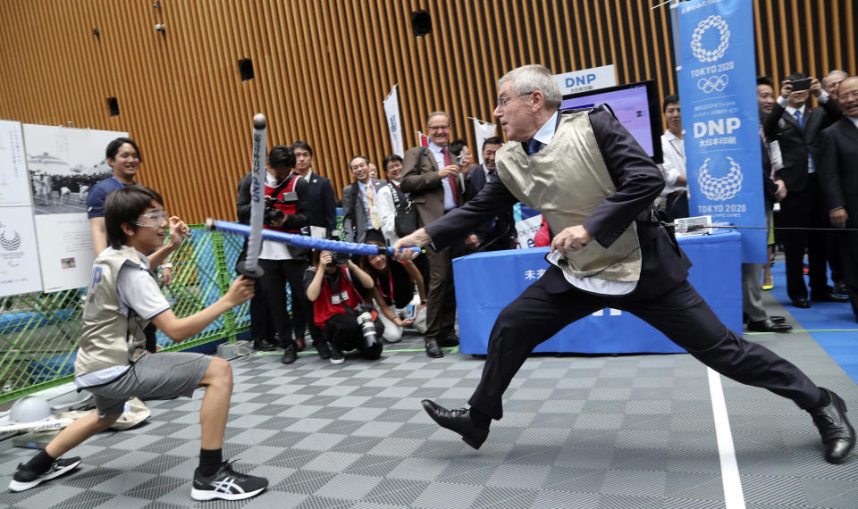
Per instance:
[[[424,151],[422,160],[421,151]],[[462,187],[460,179],[456,179],[456,182],[460,205],[464,203],[466,188]],[[420,226],[444,215],[444,188],[438,176],[438,163],[435,163],[435,157],[427,147],[414,146],[405,153],[400,190],[408,193],[411,202],[416,205]]]

